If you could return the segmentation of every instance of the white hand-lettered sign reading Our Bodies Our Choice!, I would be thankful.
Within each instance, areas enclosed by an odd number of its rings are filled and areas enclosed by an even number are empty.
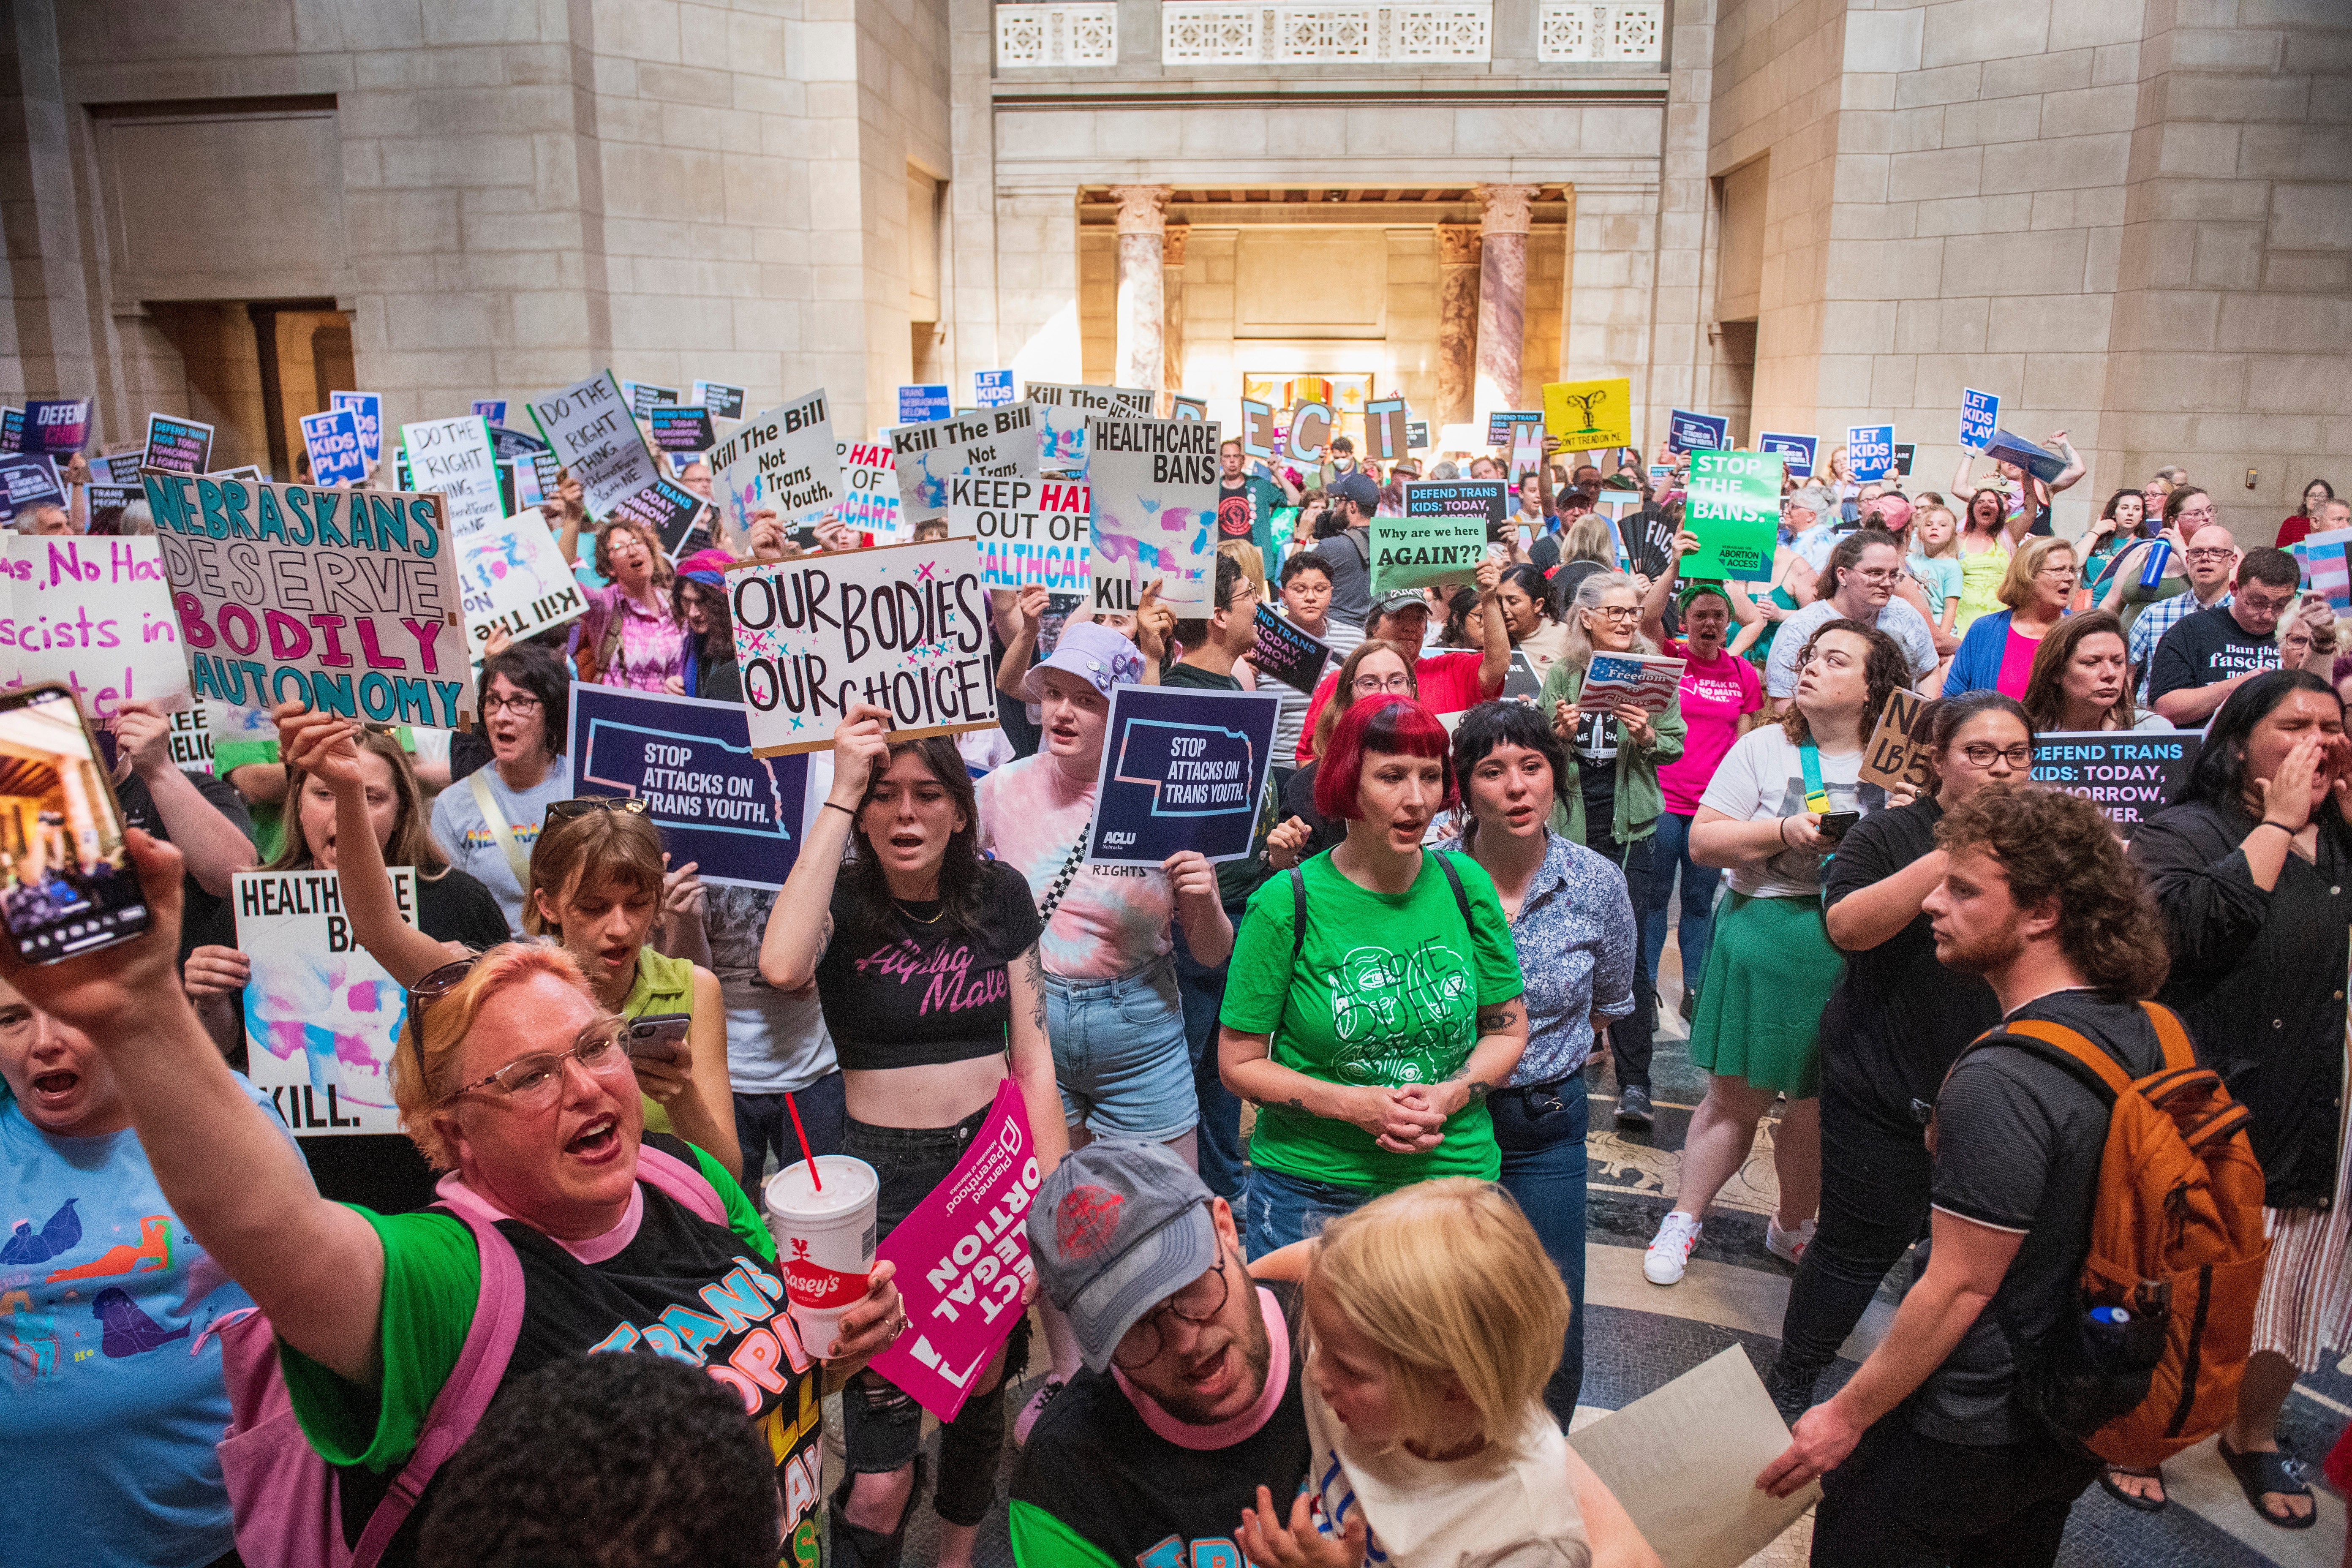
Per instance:
[[[757,562],[727,574],[755,757],[833,745],[856,703],[891,741],[997,722],[988,590],[969,538]]]

